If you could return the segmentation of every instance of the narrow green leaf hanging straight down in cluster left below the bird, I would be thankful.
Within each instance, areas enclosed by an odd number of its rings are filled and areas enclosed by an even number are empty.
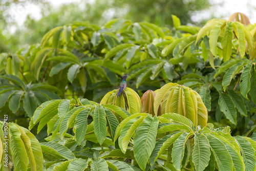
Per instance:
[[[105,118],[105,111],[102,105],[98,105],[95,107],[94,110],[94,132],[96,137],[101,145],[106,137],[106,118]]]

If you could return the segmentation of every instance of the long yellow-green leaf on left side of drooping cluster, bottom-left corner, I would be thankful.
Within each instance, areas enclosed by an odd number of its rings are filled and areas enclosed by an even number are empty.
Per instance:
[[[10,125],[11,154],[15,170],[25,171],[28,168],[28,155],[21,139],[22,133],[15,125]]]

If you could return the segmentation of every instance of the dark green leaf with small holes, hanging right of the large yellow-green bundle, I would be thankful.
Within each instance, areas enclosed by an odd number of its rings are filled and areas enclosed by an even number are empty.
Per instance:
[[[232,102],[231,98],[222,92],[219,92],[219,105],[220,110],[223,112],[226,117],[233,123],[237,124],[237,111],[234,108],[234,103]]]

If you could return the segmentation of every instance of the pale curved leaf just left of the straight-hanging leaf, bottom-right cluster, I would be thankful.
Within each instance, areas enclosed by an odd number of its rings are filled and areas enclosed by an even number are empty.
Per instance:
[[[193,133],[183,132],[179,138],[176,139],[172,151],[173,164],[177,170],[181,170],[182,168],[182,160],[184,157],[185,144],[187,139]]]

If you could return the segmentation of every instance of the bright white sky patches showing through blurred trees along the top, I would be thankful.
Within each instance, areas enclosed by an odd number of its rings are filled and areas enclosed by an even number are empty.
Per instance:
[[[23,26],[27,15],[30,15],[35,19],[41,18],[41,9],[38,3],[35,3],[32,1],[33,0],[28,0],[28,3],[25,3],[25,4],[22,3],[22,5],[21,4],[12,5],[11,8],[9,8],[7,11],[8,14],[10,14],[12,18],[16,20],[18,25],[21,27]],[[81,0],[45,0],[45,1],[50,2],[52,6],[54,6],[55,8],[58,8],[61,4],[80,2]],[[94,3],[95,0],[86,0],[86,1],[88,3]],[[188,1],[191,1],[191,0],[188,0]],[[210,10],[196,13],[192,17],[192,19],[195,22],[200,22],[200,20],[202,19],[209,19],[211,17],[212,12],[214,12],[215,16],[217,17],[224,16],[224,19],[228,19],[229,16],[234,12],[242,12],[249,17],[251,24],[256,23],[256,17],[255,17],[256,1],[255,0],[210,0],[210,3],[212,4],[222,3],[222,5],[211,8]],[[15,32],[15,27],[10,29],[11,29],[11,32]]]

